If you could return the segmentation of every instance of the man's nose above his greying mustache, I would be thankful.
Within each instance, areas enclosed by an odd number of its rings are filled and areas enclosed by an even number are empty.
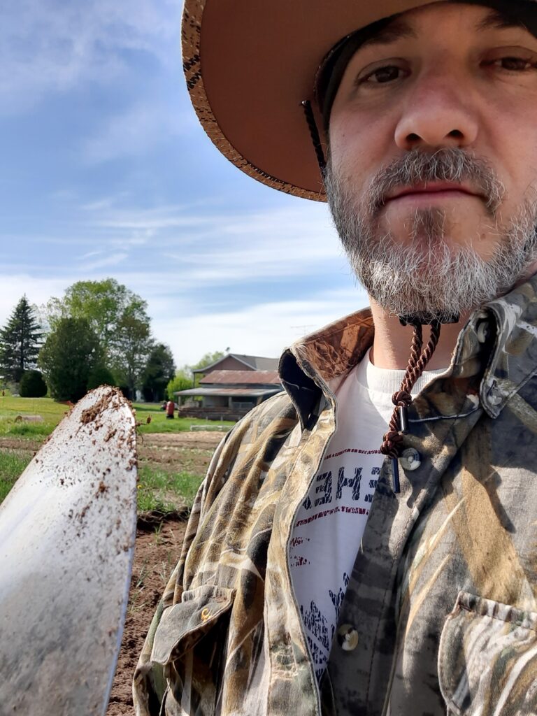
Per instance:
[[[395,129],[397,146],[412,150],[472,145],[478,121],[471,104],[468,84],[460,78],[436,74],[418,80]]]

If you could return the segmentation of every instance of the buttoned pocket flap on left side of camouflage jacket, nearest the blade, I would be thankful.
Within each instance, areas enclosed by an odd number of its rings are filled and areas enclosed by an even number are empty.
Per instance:
[[[151,660],[164,665],[188,652],[226,614],[234,598],[234,589],[212,584],[183,592],[181,601],[163,612]]]

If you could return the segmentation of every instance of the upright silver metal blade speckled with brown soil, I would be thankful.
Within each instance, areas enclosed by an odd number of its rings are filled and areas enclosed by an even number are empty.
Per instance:
[[[103,386],[0,505],[2,716],[105,714],[135,531],[135,419]]]

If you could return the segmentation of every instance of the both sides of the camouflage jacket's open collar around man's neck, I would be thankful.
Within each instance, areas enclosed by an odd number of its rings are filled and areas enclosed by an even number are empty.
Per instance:
[[[362,360],[373,336],[367,308],[297,341],[282,354],[281,381],[303,427],[309,425],[321,395],[333,398],[328,382]],[[452,374],[463,374],[476,354],[487,364],[480,400],[495,418],[537,372],[537,274],[470,316],[453,353]]]

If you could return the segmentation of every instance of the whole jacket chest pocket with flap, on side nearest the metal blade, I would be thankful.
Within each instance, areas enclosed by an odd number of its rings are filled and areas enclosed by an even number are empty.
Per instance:
[[[205,584],[165,609],[151,660],[168,682],[163,716],[213,716],[226,654],[235,590]]]

